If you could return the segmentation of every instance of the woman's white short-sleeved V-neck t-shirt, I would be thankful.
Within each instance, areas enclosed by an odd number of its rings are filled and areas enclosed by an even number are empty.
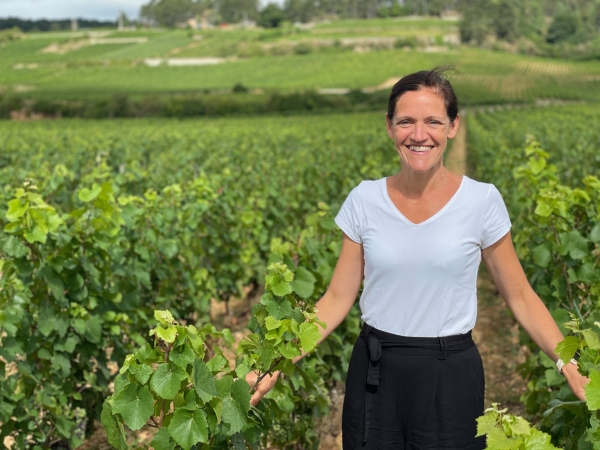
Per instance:
[[[363,181],[350,192],[335,222],[363,245],[362,320],[415,337],[473,328],[481,249],[511,227],[498,189],[468,177],[439,212],[419,224],[392,203],[385,178]]]

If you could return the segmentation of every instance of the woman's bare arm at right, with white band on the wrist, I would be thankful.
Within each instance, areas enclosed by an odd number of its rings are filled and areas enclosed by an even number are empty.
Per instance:
[[[553,361],[558,360],[554,349],[562,341],[563,335],[546,305],[531,288],[517,258],[510,232],[495,244],[483,249],[482,255],[500,295],[519,324],[544,353]],[[582,376],[573,364],[565,364],[563,373],[575,395],[585,400],[585,385],[589,379]]]

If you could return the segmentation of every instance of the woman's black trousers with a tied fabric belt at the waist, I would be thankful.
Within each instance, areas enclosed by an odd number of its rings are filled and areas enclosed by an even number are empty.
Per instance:
[[[344,450],[479,450],[483,364],[471,333],[398,336],[363,326],[342,413]]]

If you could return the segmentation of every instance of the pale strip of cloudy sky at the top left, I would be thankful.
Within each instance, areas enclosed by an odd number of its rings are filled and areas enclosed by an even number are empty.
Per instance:
[[[271,1],[283,3],[283,0]],[[133,19],[145,3],[148,0],[0,0],[0,17],[116,20],[122,10]]]

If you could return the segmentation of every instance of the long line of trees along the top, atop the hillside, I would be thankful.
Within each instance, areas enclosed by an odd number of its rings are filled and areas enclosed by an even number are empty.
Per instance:
[[[283,5],[274,1],[262,5],[259,0],[150,0],[140,17],[161,26],[198,19],[277,27],[283,21],[442,16],[458,11],[461,40],[478,45],[490,36],[507,42],[526,38],[536,44],[581,44],[600,30],[600,0],[285,0]]]

